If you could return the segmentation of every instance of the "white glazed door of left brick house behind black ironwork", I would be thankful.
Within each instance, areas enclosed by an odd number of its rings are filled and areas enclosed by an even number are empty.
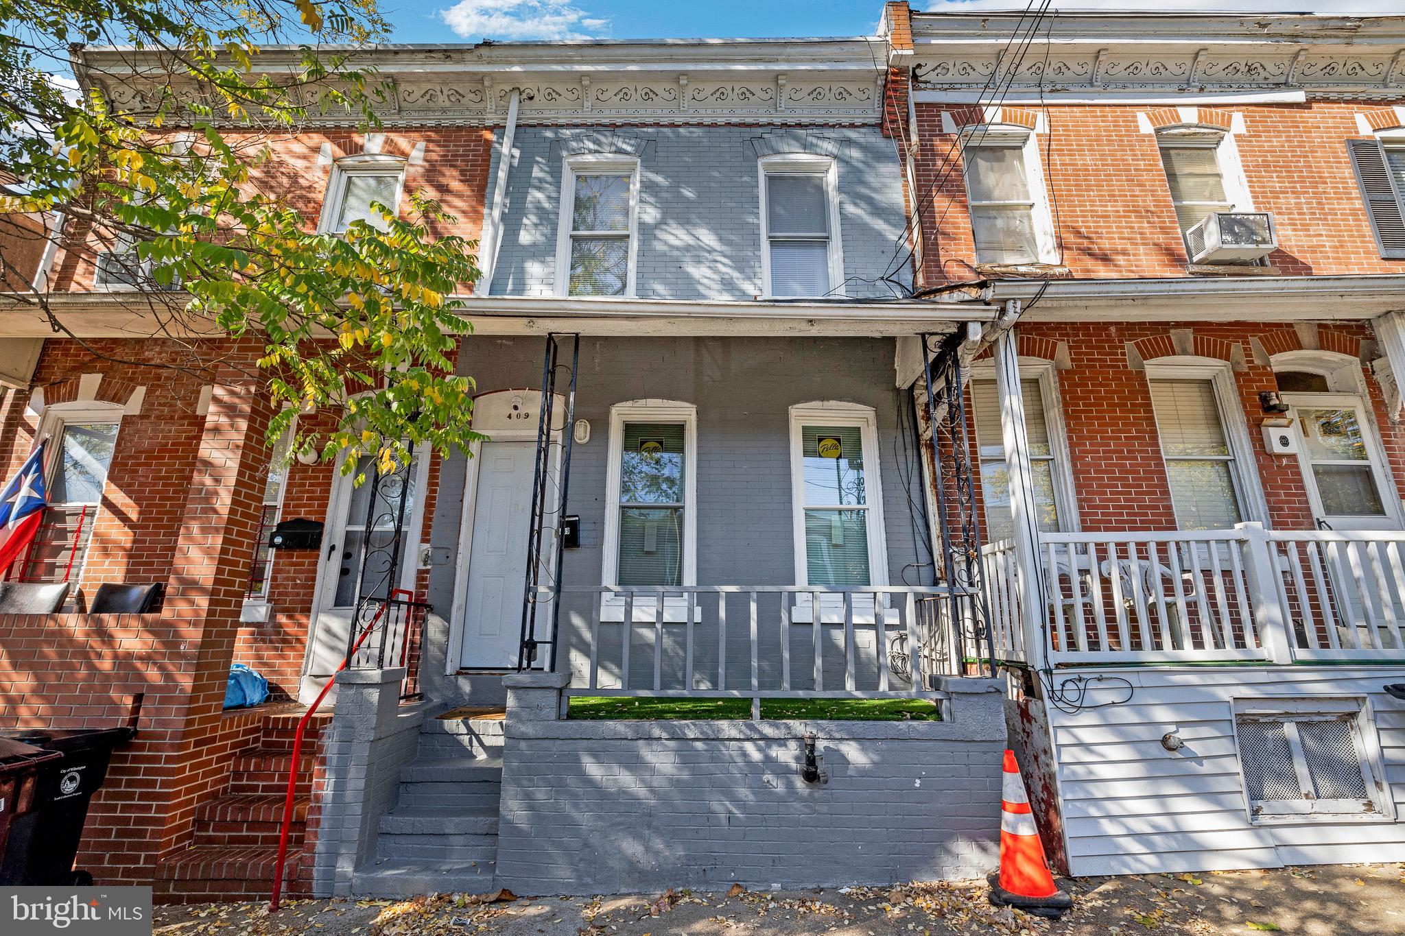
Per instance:
[[[346,658],[358,609],[370,622],[377,610],[374,599],[388,596],[392,588],[413,588],[417,557],[412,544],[419,543],[420,535],[417,488],[423,484],[424,460],[423,453],[416,453],[409,467],[386,479],[370,469],[360,487],[353,484],[355,472],[337,474],[333,481],[313,636],[301,688],[303,702],[316,695]]]

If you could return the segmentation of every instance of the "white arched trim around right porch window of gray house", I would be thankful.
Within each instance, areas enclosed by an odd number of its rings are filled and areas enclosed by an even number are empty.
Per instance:
[[[790,408],[791,436],[791,536],[795,549],[795,584],[809,585],[805,550],[805,449],[801,427],[858,427],[864,446],[864,498],[868,526],[868,584],[888,584],[888,535],[882,516],[882,462],[878,448],[878,413],[842,400],[797,403]]]

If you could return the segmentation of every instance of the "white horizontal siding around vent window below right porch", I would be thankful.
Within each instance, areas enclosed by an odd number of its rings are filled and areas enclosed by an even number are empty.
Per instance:
[[[1073,874],[1405,860],[1405,824],[1390,821],[1405,805],[1405,710],[1381,692],[1388,679],[1378,668],[1145,667],[1085,675],[1132,678],[1135,686],[1114,690],[1103,682],[1109,688],[1087,696],[1092,704],[1121,704],[1048,706]],[[1381,814],[1253,821],[1235,710],[1245,699],[1281,709],[1281,696],[1368,696],[1361,741],[1381,766],[1373,790]],[[1159,744],[1168,731],[1184,742],[1180,751]]]

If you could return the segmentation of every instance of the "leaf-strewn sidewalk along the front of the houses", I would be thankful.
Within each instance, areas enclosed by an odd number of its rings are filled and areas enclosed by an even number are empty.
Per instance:
[[[1075,909],[1058,922],[993,908],[982,883],[894,888],[740,891],[607,898],[464,895],[413,901],[295,901],[270,918],[263,904],[204,904],[156,911],[156,933],[198,936],[1246,936],[1405,935],[1405,864],[1274,871],[1089,877],[1072,883]],[[503,895],[510,897],[510,895]]]

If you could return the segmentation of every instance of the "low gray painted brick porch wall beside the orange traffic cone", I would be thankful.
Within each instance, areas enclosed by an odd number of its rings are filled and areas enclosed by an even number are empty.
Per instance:
[[[660,723],[559,720],[561,676],[507,683],[500,887],[887,884],[996,866],[996,685],[954,693],[946,723]],[[799,776],[805,730],[825,784]]]

